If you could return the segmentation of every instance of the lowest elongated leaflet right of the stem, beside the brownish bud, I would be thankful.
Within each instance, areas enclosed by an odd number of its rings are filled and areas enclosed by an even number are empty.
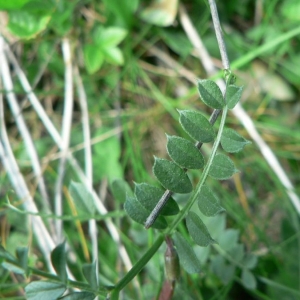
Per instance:
[[[200,273],[201,265],[191,245],[179,232],[174,233],[173,240],[182,267],[189,274]]]

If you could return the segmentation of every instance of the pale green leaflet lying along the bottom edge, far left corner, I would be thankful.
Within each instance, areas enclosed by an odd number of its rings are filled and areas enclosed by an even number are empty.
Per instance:
[[[53,300],[60,297],[66,286],[50,281],[33,281],[25,287],[27,300]]]

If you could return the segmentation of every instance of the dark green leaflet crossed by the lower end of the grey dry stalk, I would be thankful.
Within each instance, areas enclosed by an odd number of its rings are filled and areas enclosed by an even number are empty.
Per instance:
[[[164,194],[164,190],[147,184],[147,183],[135,183],[135,196],[137,200],[149,211],[152,211]],[[160,214],[163,216],[173,216],[179,213],[178,204],[174,199],[170,198]]]

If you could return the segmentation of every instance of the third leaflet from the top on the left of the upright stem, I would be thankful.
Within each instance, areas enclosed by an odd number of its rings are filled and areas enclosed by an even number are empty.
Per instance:
[[[204,158],[200,150],[189,140],[167,135],[167,151],[172,160],[182,168],[200,169]]]

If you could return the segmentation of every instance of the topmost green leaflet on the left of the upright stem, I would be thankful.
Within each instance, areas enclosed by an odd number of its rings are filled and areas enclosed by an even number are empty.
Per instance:
[[[222,109],[225,105],[219,86],[211,80],[198,80],[198,91],[201,100],[209,107]]]

